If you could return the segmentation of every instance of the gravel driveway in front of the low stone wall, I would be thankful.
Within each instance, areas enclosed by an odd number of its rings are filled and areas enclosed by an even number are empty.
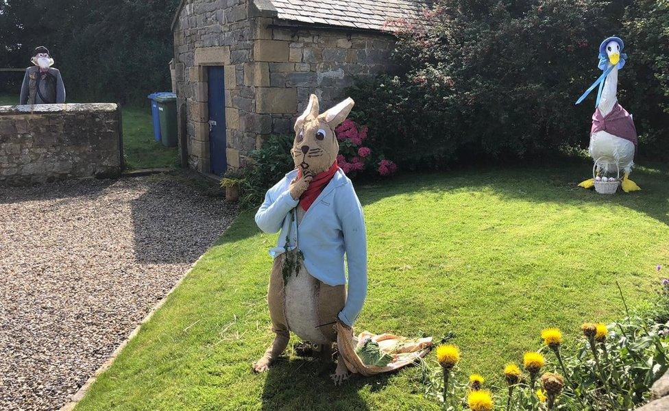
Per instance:
[[[180,178],[0,187],[0,410],[64,405],[234,213]]]

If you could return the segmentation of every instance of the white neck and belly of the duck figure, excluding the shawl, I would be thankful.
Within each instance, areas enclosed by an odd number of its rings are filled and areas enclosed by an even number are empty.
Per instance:
[[[616,91],[618,90],[618,67],[614,67],[611,73],[607,75],[602,97],[599,101],[599,111],[606,116],[616,104]],[[633,142],[614,136],[609,132],[599,131],[590,135],[590,145],[588,151],[592,160],[598,165],[597,171],[604,173],[630,173],[634,165]]]

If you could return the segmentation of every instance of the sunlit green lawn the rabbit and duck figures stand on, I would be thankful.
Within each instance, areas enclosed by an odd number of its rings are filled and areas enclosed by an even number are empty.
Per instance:
[[[476,371],[500,385],[503,364],[539,348],[543,327],[561,327],[573,349],[583,321],[621,317],[616,280],[643,307],[655,265],[669,262],[669,173],[640,167],[633,178],[644,190],[613,197],[576,188],[589,173],[588,164],[472,169],[358,185],[369,295],[357,329],[453,332],[458,378]],[[241,214],[77,410],[439,409],[415,367],[338,389],[332,366],[294,356],[250,372],[272,338],[275,240],[253,212]]]

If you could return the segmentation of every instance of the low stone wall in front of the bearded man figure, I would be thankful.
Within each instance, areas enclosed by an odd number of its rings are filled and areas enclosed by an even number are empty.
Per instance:
[[[0,184],[120,175],[122,134],[116,104],[0,106]]]

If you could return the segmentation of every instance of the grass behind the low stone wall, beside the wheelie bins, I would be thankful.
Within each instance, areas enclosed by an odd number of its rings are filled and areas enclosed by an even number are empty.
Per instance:
[[[19,95],[0,93],[0,105],[19,103]],[[128,169],[158,169],[179,166],[177,147],[164,147],[154,139],[148,107],[123,107],[123,149]]]

